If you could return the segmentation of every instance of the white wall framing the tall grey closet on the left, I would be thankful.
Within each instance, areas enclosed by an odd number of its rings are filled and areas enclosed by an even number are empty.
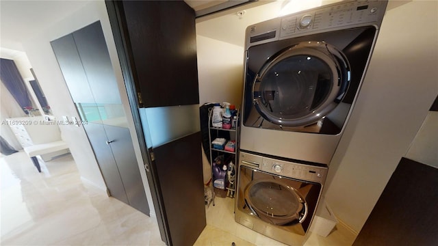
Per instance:
[[[146,190],[146,197],[148,198],[149,207],[151,208],[151,216],[155,216],[152,196],[142,162],[135,126],[133,124],[131,111],[129,109],[129,102],[123,81],[123,74],[118,61],[116,45],[112,36],[110,20],[107,15],[105,2],[89,1],[87,5],[77,10],[77,12],[74,12],[70,16],[66,16],[60,21],[55,21],[52,26],[47,27],[47,29],[42,29],[37,36],[29,38],[27,42],[23,42],[23,48],[27,53],[27,57],[29,57],[29,61],[34,68],[34,72],[38,77],[38,81],[40,82],[44,94],[51,103],[53,113],[55,114],[57,120],[62,119],[62,115],[66,115],[69,118],[71,116],[75,116],[77,119],[80,119],[74,102],[68,92],[68,87],[66,86],[60,67],[57,64],[53,50],[51,49],[50,42],[62,36],[66,36],[77,29],[81,29],[86,25],[90,25],[96,20],[101,21],[108,51],[112,60],[114,73],[116,75],[116,80],[118,81],[120,97],[127,115],[129,129],[131,131],[131,138],[133,139],[133,146],[138,159],[140,174]],[[99,166],[96,163],[96,159],[94,158],[92,148],[83,127],[60,126],[60,128],[62,131],[62,138],[70,146],[70,151],[73,154],[75,162],[77,163],[77,168],[79,169],[81,178],[86,180],[86,182],[90,182],[94,184],[94,186],[105,190],[105,182],[101,176]]]

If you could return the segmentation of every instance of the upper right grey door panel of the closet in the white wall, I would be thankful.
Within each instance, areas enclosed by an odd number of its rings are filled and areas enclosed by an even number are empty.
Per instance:
[[[101,23],[75,31],[73,38],[96,103],[122,103]]]

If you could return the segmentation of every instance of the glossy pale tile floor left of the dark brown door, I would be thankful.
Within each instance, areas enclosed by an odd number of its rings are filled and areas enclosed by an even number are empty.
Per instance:
[[[70,154],[41,174],[23,152],[0,168],[1,245],[165,245],[155,219],[83,184]]]

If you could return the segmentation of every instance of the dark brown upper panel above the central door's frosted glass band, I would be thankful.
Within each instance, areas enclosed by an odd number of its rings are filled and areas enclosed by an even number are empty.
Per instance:
[[[144,107],[198,104],[194,10],[183,1],[123,1],[123,8]]]

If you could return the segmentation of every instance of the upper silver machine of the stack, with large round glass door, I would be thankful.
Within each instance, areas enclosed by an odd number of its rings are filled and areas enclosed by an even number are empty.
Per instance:
[[[246,29],[240,149],[329,165],[387,1],[342,1]]]

